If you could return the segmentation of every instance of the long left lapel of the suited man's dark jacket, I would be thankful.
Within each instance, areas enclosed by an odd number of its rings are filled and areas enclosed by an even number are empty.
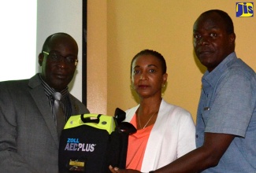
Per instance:
[[[54,138],[54,142],[56,143],[56,145],[59,145],[59,139],[56,125],[54,123],[54,117],[51,112],[49,101],[46,97],[39,76],[34,75],[32,79],[29,80],[28,86],[32,88],[32,90],[30,91],[32,98],[34,99],[35,104],[41,112],[43,119],[45,120],[46,126],[49,128],[50,134]]]

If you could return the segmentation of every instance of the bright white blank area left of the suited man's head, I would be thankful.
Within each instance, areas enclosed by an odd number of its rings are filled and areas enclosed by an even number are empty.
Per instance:
[[[0,1],[0,8],[0,81],[28,79],[35,75],[37,1]]]

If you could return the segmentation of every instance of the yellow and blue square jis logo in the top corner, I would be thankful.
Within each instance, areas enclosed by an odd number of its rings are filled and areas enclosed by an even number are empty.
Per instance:
[[[236,2],[236,17],[254,17],[254,2]]]

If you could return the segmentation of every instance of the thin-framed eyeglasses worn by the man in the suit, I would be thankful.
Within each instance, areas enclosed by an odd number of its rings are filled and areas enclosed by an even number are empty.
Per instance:
[[[46,53],[46,55],[48,55],[48,57],[50,58],[50,61],[60,62],[61,60],[64,60],[67,64],[75,65],[75,66],[78,63],[78,60],[76,59],[76,57],[63,57],[58,53],[49,53],[46,51],[43,51],[43,53]]]

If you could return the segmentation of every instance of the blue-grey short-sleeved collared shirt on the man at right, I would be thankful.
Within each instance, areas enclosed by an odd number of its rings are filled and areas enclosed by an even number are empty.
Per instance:
[[[212,72],[202,76],[196,145],[204,132],[234,134],[219,164],[203,172],[256,172],[256,75],[231,53]]]

